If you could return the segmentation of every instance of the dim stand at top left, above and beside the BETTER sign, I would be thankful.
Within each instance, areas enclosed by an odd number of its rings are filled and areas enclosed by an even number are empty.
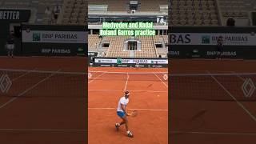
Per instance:
[[[2,8],[34,10],[34,23],[86,25],[86,0],[1,0]],[[58,17],[54,18],[55,7],[59,6]],[[48,8],[48,9],[47,9]],[[47,10],[48,12],[46,12]]]

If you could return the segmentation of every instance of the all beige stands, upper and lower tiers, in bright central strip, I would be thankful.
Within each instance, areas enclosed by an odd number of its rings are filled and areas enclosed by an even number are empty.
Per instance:
[[[137,39],[141,42],[140,50],[124,50],[125,42],[127,39],[133,39],[130,36],[104,36],[98,38],[98,29],[102,24],[102,21],[111,18],[108,14],[117,14],[118,18],[117,22],[122,22],[126,20],[126,17],[122,17],[122,14],[130,13],[129,12],[129,2],[130,0],[89,0],[89,27],[90,27],[90,36],[89,36],[89,51],[98,52],[104,55],[102,52],[105,52],[105,57],[114,57],[114,58],[158,58],[159,55],[162,58],[166,58],[167,46],[168,42],[167,35],[162,36],[138,36]],[[147,16],[137,16],[134,18],[134,21],[151,21],[149,18],[154,18],[154,25],[159,26],[157,22],[157,18],[165,18],[168,14],[168,1],[167,0],[138,0],[138,10],[136,10],[137,14],[148,14]],[[90,15],[92,14],[92,15]],[[95,16],[95,14],[98,14]],[[104,14],[104,16],[101,16]],[[151,15],[150,15],[151,14]],[[158,15],[152,15],[158,14]],[[162,16],[163,15],[163,16]],[[114,17],[115,18],[115,17]],[[144,19],[143,19],[144,18]],[[113,19],[112,19],[113,20]],[[108,20],[106,20],[108,21]],[[128,20],[129,21],[129,20]],[[90,26],[91,25],[91,26]],[[166,25],[165,25],[166,26]],[[94,31],[94,32],[93,32]],[[161,32],[160,32],[161,31]],[[162,28],[158,28],[158,34],[163,34]],[[104,47],[104,43],[106,43],[107,47]],[[161,43],[162,48],[156,48],[155,43]],[[105,50],[105,51],[104,51]]]

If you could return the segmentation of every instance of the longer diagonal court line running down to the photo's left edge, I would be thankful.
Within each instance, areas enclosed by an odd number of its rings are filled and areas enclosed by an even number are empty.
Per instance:
[[[0,106],[0,109],[2,109],[4,106],[10,104],[11,102],[14,102],[14,100],[16,100],[17,98],[21,97],[22,95],[26,94],[28,91],[33,90],[36,86],[38,86],[40,83],[45,82],[47,79],[49,79],[50,77],[54,76],[54,74],[57,74],[60,70],[55,71],[55,73],[50,74],[48,77],[43,78],[40,82],[34,84],[33,86],[31,86],[30,88],[24,90],[22,93],[18,94],[17,97],[11,98],[8,102],[2,104],[2,106]]]

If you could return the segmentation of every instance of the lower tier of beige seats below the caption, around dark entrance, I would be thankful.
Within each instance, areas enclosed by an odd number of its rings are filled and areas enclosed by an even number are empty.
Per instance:
[[[98,34],[89,34],[89,51],[97,51],[102,53],[103,43],[109,43],[109,47],[106,48],[106,57],[122,57],[122,58],[158,58],[159,55],[162,58],[166,58],[167,53],[167,35],[165,36],[139,36],[138,41],[142,42],[141,50],[134,50],[134,56],[130,55],[129,50],[124,50],[124,42],[129,36],[106,36],[98,38]],[[162,48],[157,49],[155,43],[162,43]],[[103,56],[103,55],[101,55]]]

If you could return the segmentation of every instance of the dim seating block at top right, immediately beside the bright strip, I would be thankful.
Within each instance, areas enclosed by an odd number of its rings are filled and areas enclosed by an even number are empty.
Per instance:
[[[214,0],[172,0],[171,26],[218,26],[218,7]]]

